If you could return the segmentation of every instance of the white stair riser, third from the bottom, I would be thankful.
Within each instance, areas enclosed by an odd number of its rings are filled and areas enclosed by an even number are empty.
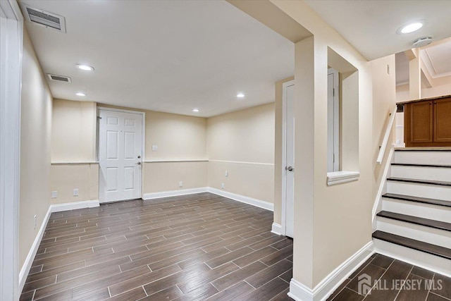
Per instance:
[[[404,201],[403,199],[383,198],[382,210],[424,219],[435,219],[435,221],[451,221],[451,207],[423,204],[418,202]]]

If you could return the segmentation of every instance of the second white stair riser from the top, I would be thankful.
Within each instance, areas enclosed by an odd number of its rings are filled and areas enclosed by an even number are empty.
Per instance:
[[[391,176],[416,180],[451,181],[451,168],[393,165]]]

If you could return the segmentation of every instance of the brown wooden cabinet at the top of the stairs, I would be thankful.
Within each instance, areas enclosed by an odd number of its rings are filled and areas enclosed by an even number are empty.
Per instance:
[[[404,104],[406,147],[451,146],[451,97]]]

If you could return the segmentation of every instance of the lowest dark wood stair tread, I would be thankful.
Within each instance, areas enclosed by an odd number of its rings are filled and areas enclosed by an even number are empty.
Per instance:
[[[428,242],[413,240],[412,238],[404,238],[403,236],[383,231],[375,231],[373,233],[373,238],[376,238],[378,240],[385,240],[386,242],[392,242],[396,245],[409,247],[411,249],[426,252],[428,254],[433,254],[435,256],[443,257],[445,259],[451,259],[451,249],[448,249],[446,247],[440,247],[439,245],[432,245]]]

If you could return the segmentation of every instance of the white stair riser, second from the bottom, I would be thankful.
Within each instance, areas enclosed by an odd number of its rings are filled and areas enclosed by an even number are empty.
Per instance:
[[[450,231],[416,225],[414,223],[406,223],[404,221],[396,221],[394,219],[385,219],[380,216],[378,216],[377,226],[378,231],[400,235],[404,238],[412,238],[413,240],[428,242],[433,245],[440,245],[451,249]]]

